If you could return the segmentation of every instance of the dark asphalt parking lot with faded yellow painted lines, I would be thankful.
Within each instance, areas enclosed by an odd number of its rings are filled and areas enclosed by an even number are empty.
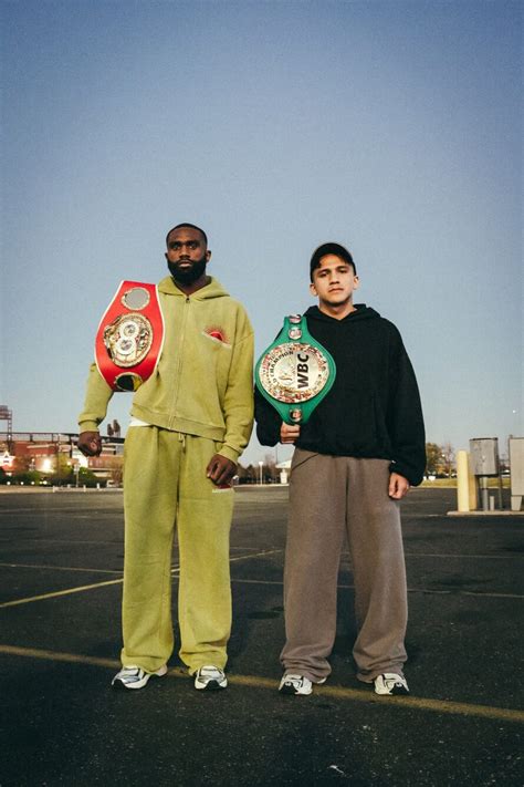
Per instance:
[[[230,685],[202,695],[176,655],[144,691],[111,690],[122,491],[0,493],[0,785],[522,785],[524,517],[448,517],[453,490],[412,490],[411,695],[355,677],[344,555],[333,674],[290,697],[276,691],[287,490],[235,494]]]

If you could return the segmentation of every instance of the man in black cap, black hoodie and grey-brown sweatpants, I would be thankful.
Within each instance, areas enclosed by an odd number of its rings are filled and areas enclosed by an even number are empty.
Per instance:
[[[302,426],[255,395],[263,445],[294,443],[284,570],[280,691],[311,694],[331,673],[337,574],[347,536],[358,628],[357,677],[407,694],[406,567],[399,500],[422,480],[425,429],[415,373],[395,325],[353,303],[355,262],[338,244],[311,259],[307,330],[334,358],[335,383]]]

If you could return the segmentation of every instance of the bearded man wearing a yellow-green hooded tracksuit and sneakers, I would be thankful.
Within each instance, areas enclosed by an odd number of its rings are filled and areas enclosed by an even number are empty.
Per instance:
[[[170,276],[158,286],[165,338],[154,374],[133,397],[124,452],[123,669],[113,685],[142,688],[172,653],[171,547],[178,534],[179,655],[197,688],[224,688],[231,631],[229,486],[253,416],[253,332],[243,307],[207,276],[207,236],[167,235]],[[102,451],[112,390],[92,365],[78,448]]]

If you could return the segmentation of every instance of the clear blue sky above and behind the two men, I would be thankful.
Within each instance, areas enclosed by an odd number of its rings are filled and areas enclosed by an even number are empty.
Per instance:
[[[402,333],[428,439],[523,434],[520,2],[1,13],[0,403],[15,431],[76,429],[117,283],[159,280],[166,230],[189,220],[258,352],[312,302],[313,248],[338,240],[358,300]],[[109,417],[128,408],[118,394]],[[265,453],[253,442],[244,462]]]

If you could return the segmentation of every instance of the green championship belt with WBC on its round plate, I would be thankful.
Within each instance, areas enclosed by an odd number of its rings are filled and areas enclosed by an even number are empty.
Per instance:
[[[305,317],[291,314],[255,367],[262,396],[286,424],[305,424],[331,391],[336,366],[332,355],[307,330]]]

